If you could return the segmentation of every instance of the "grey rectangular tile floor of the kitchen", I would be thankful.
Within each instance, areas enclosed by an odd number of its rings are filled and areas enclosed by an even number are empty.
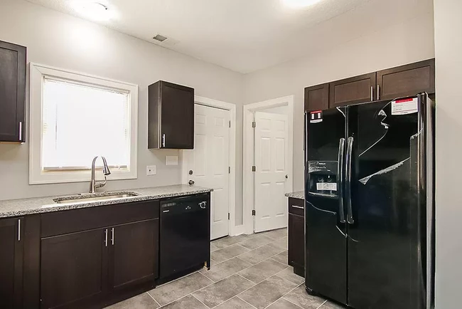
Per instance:
[[[212,267],[124,300],[110,309],[338,309],[308,295],[287,265],[287,230],[213,241]]]

